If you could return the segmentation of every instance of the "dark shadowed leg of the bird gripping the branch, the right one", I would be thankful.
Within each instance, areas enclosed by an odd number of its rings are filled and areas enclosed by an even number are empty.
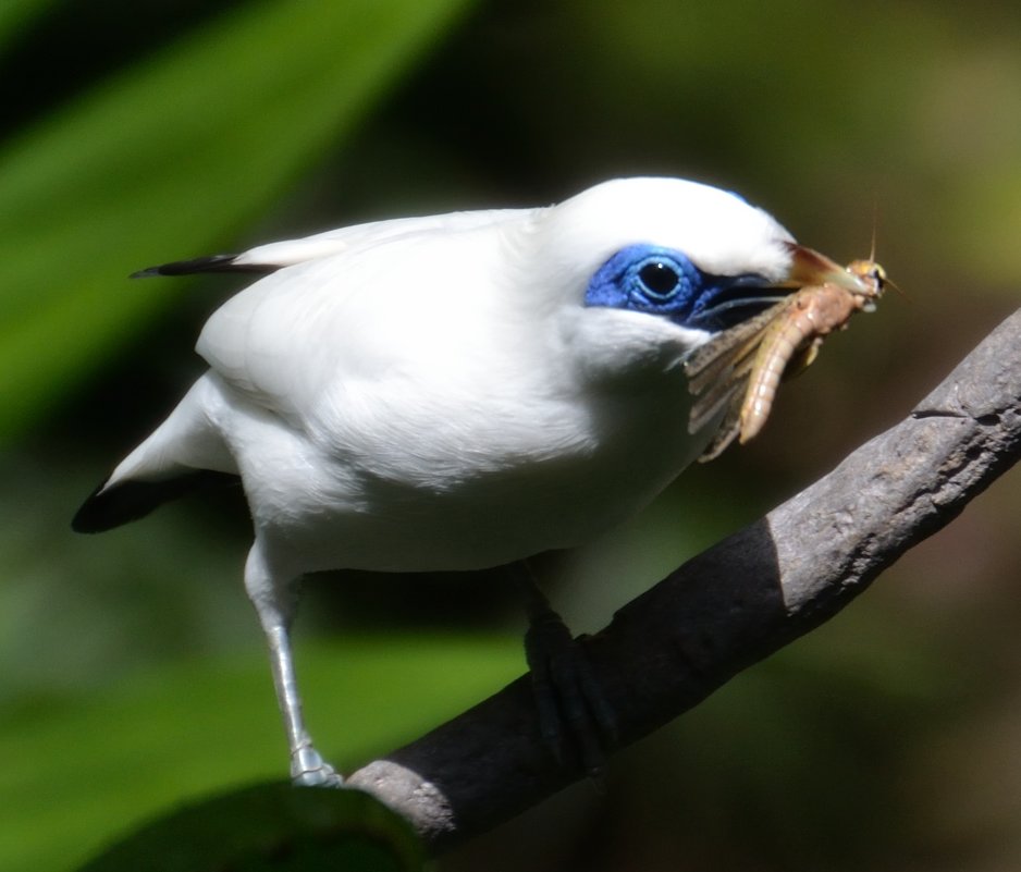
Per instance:
[[[582,766],[590,774],[599,774],[604,740],[613,744],[616,736],[613,709],[585,652],[540,590],[531,567],[521,561],[512,564],[509,570],[526,597],[525,658],[532,675],[542,737],[561,763],[565,762],[568,740],[574,739]]]

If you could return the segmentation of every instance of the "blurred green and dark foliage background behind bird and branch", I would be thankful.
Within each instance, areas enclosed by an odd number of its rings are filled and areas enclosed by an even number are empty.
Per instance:
[[[0,869],[66,869],[284,773],[236,496],[101,537],[81,501],[242,286],[151,263],[626,174],[739,191],[903,294],[750,447],[551,565],[578,630],[901,418],[1021,287],[1014,3],[7,0],[0,7]],[[831,624],[443,870],[1021,868],[1018,474]],[[311,579],[343,769],[522,670],[497,574]]]

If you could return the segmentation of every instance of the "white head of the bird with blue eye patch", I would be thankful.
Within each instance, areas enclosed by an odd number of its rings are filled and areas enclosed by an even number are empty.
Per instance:
[[[591,187],[540,212],[532,238],[548,286],[559,288],[574,358],[599,379],[674,369],[714,333],[814,277],[814,261],[799,254],[810,249],[772,216],[679,179]]]

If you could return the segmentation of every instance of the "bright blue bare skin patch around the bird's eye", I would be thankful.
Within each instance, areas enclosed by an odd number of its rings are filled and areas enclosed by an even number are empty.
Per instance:
[[[768,284],[761,275],[703,272],[673,248],[629,245],[596,270],[585,305],[661,315],[682,327],[718,331],[776,302],[779,297],[775,290],[768,294]]]

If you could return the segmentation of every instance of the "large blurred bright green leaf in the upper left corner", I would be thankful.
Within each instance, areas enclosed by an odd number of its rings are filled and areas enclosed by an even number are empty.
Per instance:
[[[466,0],[244,5],[0,151],[0,444],[350,135]]]

